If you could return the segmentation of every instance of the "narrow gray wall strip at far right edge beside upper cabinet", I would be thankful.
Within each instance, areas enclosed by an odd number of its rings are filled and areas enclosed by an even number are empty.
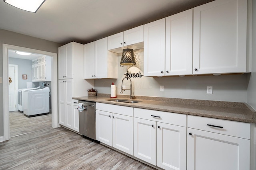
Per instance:
[[[252,1],[252,73],[247,96],[247,103],[256,109],[256,0]]]

